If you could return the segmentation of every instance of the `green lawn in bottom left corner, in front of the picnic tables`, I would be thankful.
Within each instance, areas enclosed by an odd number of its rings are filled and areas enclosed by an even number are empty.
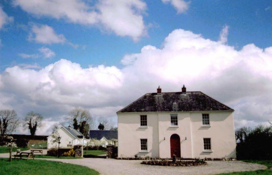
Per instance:
[[[0,174],[5,174],[5,175],[95,174],[96,175],[99,173],[85,166],[62,163],[57,161],[12,159],[12,161],[9,162],[7,158],[0,158]]]

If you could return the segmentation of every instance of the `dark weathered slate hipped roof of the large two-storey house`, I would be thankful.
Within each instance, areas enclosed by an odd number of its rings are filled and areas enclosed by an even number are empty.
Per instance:
[[[147,93],[121,112],[234,111],[200,91]]]

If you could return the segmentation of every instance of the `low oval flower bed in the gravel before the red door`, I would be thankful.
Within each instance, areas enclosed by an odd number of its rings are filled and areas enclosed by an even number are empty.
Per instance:
[[[141,164],[159,165],[159,166],[197,166],[197,165],[207,165],[207,162],[205,162],[203,159],[198,159],[196,161],[151,160],[151,161],[142,161]]]

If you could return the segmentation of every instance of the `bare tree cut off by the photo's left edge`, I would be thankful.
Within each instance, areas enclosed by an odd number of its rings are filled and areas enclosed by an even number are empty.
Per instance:
[[[19,119],[14,110],[0,110],[1,136],[14,132],[18,124]]]

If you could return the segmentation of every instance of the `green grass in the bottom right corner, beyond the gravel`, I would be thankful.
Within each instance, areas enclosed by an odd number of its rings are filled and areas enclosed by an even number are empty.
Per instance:
[[[272,167],[272,160],[241,160],[241,161],[266,165],[268,168]],[[257,171],[243,171],[243,172],[234,172],[234,173],[221,173],[218,175],[255,175],[255,174],[271,175],[272,169],[262,169]]]

